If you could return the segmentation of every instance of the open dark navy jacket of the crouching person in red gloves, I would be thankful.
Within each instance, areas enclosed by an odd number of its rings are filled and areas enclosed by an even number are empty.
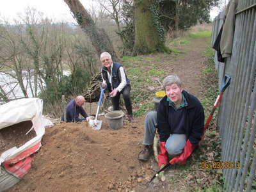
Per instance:
[[[197,145],[201,140],[201,136],[204,134],[204,108],[200,101],[193,95],[182,92],[188,103],[185,111],[185,129],[186,137],[189,139],[192,145]],[[166,142],[166,140],[172,134],[172,127],[170,127],[170,108],[167,101],[167,96],[165,96],[158,105],[157,108],[157,131],[159,133],[159,138],[161,142]],[[178,119],[177,119],[178,120]]]

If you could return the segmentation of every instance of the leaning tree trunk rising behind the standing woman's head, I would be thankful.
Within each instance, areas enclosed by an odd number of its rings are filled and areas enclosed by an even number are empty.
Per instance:
[[[98,56],[104,51],[111,54],[113,61],[120,62],[119,56],[116,54],[114,47],[109,39],[108,34],[104,29],[98,29],[92,20],[92,17],[84,9],[83,4],[79,0],[64,0],[68,7],[74,14],[79,26],[84,29],[84,32],[92,40],[93,47],[95,47]]]

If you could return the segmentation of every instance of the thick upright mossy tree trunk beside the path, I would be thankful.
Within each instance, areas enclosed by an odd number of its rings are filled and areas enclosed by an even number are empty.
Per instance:
[[[148,9],[148,0],[135,1],[135,42],[133,54],[150,54],[162,51],[164,43],[161,42],[157,29],[153,25],[151,12]]]

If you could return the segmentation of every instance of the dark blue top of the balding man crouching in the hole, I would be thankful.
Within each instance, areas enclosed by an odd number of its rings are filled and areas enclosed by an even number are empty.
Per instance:
[[[78,118],[79,114],[81,114],[84,118]],[[83,120],[86,120],[86,117],[88,117],[88,115],[86,114],[86,112],[82,107],[76,106],[75,99],[70,100],[70,102],[67,104],[66,115],[67,115],[67,122],[81,122]],[[61,116],[61,121],[64,121],[64,113]]]

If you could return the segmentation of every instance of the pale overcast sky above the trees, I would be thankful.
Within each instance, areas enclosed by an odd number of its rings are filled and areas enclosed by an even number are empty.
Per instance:
[[[80,2],[85,8],[90,8],[93,4],[93,0],[80,0]],[[75,21],[63,0],[4,0],[0,4],[0,15],[12,21],[13,18],[17,18],[17,13],[24,13],[28,6],[36,8],[36,10],[54,20]],[[211,19],[214,19],[217,14],[212,12]]]

